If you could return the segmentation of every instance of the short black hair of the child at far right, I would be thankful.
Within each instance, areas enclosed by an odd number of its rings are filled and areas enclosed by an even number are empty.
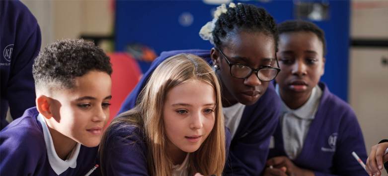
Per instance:
[[[321,28],[310,21],[304,20],[288,20],[278,25],[279,35],[287,32],[312,32],[318,39],[322,42],[323,45],[323,55],[326,55],[326,40],[325,33]]]

